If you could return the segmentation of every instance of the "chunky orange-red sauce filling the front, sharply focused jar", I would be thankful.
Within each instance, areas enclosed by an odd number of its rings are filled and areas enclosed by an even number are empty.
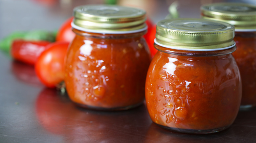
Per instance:
[[[230,126],[242,94],[237,64],[227,54],[234,48],[208,52],[206,56],[206,52],[185,53],[155,46],[163,52],[158,51],[153,58],[145,86],[153,122],[188,133],[211,133]]]

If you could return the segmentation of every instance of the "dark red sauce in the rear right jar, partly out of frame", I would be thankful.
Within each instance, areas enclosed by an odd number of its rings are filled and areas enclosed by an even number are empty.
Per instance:
[[[236,32],[233,53],[242,78],[241,105],[256,105],[256,32]]]

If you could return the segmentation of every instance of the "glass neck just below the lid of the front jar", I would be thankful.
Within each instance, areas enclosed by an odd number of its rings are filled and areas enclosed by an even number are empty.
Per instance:
[[[217,51],[190,51],[190,50],[177,50],[166,48],[154,43],[155,48],[163,53],[179,55],[179,56],[221,56],[231,54],[236,50],[236,46],[234,45],[231,48]]]

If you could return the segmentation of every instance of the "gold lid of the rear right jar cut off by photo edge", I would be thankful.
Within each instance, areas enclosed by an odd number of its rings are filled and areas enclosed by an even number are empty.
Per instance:
[[[214,3],[201,7],[205,19],[235,26],[236,31],[256,31],[256,6],[244,3]]]

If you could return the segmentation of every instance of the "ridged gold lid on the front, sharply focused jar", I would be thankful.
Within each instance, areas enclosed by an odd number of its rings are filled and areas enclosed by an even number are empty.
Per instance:
[[[213,51],[234,46],[234,26],[213,20],[180,18],[157,23],[156,44],[182,50]]]

